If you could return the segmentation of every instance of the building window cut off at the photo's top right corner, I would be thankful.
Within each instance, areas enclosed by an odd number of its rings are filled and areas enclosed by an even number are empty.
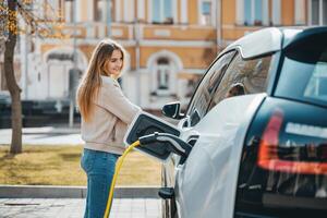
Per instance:
[[[311,0],[311,24],[327,25],[327,0]]]

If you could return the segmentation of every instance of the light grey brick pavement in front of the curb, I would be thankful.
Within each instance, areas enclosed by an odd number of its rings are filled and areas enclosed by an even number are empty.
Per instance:
[[[80,218],[83,198],[0,198],[1,218]],[[110,218],[161,218],[158,198],[114,198]]]

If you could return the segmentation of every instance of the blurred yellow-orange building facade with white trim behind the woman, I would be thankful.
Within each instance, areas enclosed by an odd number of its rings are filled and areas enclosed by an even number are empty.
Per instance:
[[[148,110],[186,104],[217,53],[258,28],[326,25],[325,0],[49,0],[58,23],[29,55],[27,99],[66,99],[73,68],[83,73],[102,38],[126,50],[122,87]],[[40,7],[40,10],[44,5]],[[323,10],[322,10],[323,8]],[[44,10],[44,16],[49,14]],[[52,36],[53,36],[52,35]]]

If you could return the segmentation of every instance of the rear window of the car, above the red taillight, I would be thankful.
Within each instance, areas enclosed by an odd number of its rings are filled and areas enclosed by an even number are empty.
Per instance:
[[[326,46],[287,51],[275,95],[327,106]]]

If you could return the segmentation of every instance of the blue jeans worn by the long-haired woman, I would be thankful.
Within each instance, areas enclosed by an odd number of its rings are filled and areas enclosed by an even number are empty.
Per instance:
[[[102,218],[119,155],[84,148],[81,166],[87,175],[84,218]]]

